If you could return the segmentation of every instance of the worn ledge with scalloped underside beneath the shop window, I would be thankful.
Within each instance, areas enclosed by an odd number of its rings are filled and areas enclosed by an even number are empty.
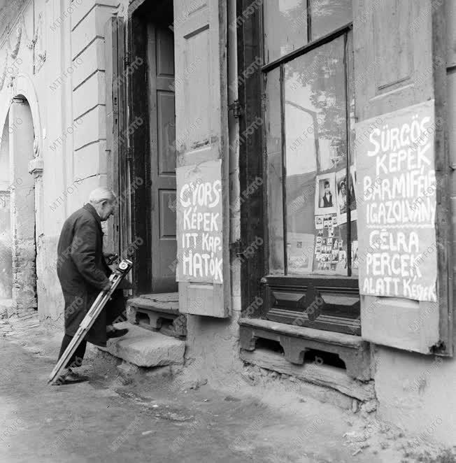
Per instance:
[[[278,341],[284,350],[285,359],[298,365],[304,364],[306,350],[331,352],[343,360],[348,376],[362,381],[371,379],[370,344],[359,336],[258,318],[241,318],[238,323],[241,325],[241,349],[255,350],[258,338]]]

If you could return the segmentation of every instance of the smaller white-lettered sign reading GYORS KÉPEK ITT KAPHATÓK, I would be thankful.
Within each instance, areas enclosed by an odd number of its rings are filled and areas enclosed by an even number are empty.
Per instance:
[[[223,283],[221,163],[176,169],[177,281]]]

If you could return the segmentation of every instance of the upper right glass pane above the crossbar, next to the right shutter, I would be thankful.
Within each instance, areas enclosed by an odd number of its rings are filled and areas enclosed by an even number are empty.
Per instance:
[[[348,24],[352,20],[352,0],[311,0],[312,40]]]

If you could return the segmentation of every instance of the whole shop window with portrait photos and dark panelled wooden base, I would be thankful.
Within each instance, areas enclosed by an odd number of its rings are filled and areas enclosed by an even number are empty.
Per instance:
[[[264,5],[262,282],[269,320],[359,334],[351,15],[344,0]]]

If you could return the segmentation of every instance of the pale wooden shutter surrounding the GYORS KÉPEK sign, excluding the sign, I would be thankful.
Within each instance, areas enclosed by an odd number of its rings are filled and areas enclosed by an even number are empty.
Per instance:
[[[208,169],[215,161],[211,180],[222,185],[223,283],[181,281],[179,311],[219,318],[231,311],[227,29],[226,2],[174,0],[178,169]]]

